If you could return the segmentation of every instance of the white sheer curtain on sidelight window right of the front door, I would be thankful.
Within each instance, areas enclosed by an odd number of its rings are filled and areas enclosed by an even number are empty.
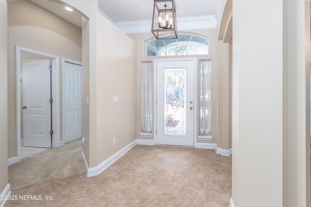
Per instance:
[[[199,135],[211,135],[211,60],[200,60]]]

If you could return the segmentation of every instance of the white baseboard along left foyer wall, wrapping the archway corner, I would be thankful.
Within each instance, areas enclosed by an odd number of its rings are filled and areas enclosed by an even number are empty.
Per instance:
[[[116,154],[112,155],[108,159],[106,159],[104,162],[102,162],[97,167],[89,168],[86,162],[86,157],[84,156],[84,153],[82,151],[82,159],[84,162],[84,165],[86,167],[86,176],[92,177],[95,175],[98,175],[99,173],[102,173],[107,167],[109,167],[112,163],[114,163],[116,160],[118,160],[122,155],[127,153],[130,149],[132,149],[136,145],[136,139],[129,143],[127,146],[125,146],[123,149],[121,149]]]

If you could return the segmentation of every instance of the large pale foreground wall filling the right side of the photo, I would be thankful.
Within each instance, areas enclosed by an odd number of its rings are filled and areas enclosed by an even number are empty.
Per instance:
[[[311,205],[305,47],[310,34],[305,37],[304,4],[233,2],[232,199],[237,207]]]

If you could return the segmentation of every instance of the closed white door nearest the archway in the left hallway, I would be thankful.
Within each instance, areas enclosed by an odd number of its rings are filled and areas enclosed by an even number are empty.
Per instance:
[[[68,62],[64,65],[64,130],[68,143],[82,137],[82,66]]]

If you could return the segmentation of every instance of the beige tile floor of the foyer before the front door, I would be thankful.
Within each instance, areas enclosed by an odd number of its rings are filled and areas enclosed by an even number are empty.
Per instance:
[[[17,200],[5,207],[228,207],[231,157],[214,150],[136,145],[98,176],[81,174],[11,196]]]

